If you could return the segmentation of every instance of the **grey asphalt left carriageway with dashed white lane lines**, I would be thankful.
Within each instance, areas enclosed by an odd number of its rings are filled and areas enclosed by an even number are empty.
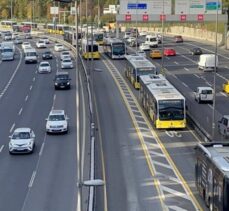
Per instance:
[[[35,47],[36,39],[29,41]],[[53,43],[48,45],[53,51]],[[40,60],[45,50],[37,49]],[[25,64],[20,45],[14,61],[0,64],[0,210],[76,210],[76,71],[67,70],[72,79],[71,90],[55,91],[53,79],[61,68],[60,53],[53,51],[53,54],[54,58],[49,60],[50,74],[38,74],[37,64]],[[46,134],[45,119],[51,109],[65,110],[70,118],[68,134]],[[82,134],[86,124],[84,115],[85,108],[80,114]],[[9,154],[8,136],[18,127],[34,130],[33,154]]]

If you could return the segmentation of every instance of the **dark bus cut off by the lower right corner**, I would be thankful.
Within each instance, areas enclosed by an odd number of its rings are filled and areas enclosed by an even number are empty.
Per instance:
[[[196,150],[196,187],[209,210],[229,210],[229,143],[198,144]]]

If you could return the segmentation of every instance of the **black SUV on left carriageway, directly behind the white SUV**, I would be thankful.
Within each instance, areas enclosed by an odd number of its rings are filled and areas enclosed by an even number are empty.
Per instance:
[[[58,72],[54,79],[55,89],[70,89],[70,77],[68,72]]]

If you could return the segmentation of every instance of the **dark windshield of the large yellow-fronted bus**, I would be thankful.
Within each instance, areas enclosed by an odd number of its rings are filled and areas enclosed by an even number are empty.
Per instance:
[[[184,100],[159,100],[160,120],[183,120]]]

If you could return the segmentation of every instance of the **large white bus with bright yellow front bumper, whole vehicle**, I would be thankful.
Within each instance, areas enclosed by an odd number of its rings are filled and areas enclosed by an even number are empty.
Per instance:
[[[140,76],[140,101],[156,128],[186,127],[185,98],[164,76]]]

